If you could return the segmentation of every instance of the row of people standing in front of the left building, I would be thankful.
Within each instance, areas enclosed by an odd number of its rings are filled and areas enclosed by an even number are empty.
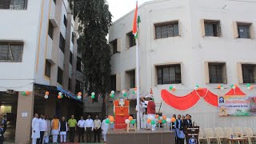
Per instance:
[[[88,115],[86,120],[81,117],[77,122],[74,115],[71,115],[71,118],[68,121],[66,121],[65,117],[62,117],[62,119],[59,120],[57,116],[54,116],[50,121],[49,117],[45,117],[44,114],[41,114],[40,118],[38,118],[38,114],[34,114],[34,119],[32,120],[32,143],[49,143],[50,134],[53,136],[53,143],[58,143],[58,135],[60,136],[60,142],[66,142],[67,132],[69,132],[70,142],[74,142],[76,132],[78,134],[78,142],[85,142],[84,133],[86,133],[86,142],[91,142],[93,133],[94,142],[97,142],[96,138],[98,138],[98,142],[100,142],[101,132],[102,138],[104,139],[104,142],[106,142],[108,124],[106,124],[105,121],[106,119],[101,122],[101,120],[98,119],[98,115],[96,115],[94,120]]]

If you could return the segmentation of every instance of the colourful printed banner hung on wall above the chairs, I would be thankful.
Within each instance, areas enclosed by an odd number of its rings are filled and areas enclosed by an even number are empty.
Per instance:
[[[256,96],[225,95],[218,97],[219,116],[256,115]]]

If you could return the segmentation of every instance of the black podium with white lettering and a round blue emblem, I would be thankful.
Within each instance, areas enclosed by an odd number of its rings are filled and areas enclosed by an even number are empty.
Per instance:
[[[199,126],[185,127],[186,144],[198,144]]]

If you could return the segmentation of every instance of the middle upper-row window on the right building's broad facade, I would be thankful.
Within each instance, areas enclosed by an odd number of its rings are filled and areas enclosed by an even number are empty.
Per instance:
[[[222,35],[219,21],[204,20],[205,35],[210,37],[220,37]]]

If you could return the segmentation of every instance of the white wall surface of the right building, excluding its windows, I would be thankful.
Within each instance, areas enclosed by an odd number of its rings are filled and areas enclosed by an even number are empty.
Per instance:
[[[226,6],[226,9],[222,7]],[[175,95],[186,95],[198,84],[210,88],[214,94],[226,94],[226,91],[214,90],[215,84],[206,84],[204,62],[226,62],[228,83],[238,83],[237,62],[256,62],[256,39],[234,39],[232,22],[254,22],[256,2],[236,2],[223,0],[163,0],[146,2],[139,8],[142,22],[139,25],[140,75],[141,91],[144,94],[154,91],[157,111],[162,102],[161,90],[168,90],[170,85],[154,85],[154,65],[170,62],[182,62],[182,84],[177,87]],[[114,54],[111,59],[112,74],[122,73],[121,88],[125,88],[124,74],[135,67],[135,47],[126,49],[126,33],[132,30],[134,13],[126,14],[110,27],[110,42],[122,38],[122,52]],[[222,25],[221,38],[202,38],[200,19],[219,19]],[[154,23],[179,20],[181,37],[154,39]],[[255,27],[255,22],[254,22]],[[256,29],[254,29],[256,30]],[[239,85],[246,94],[245,85]],[[186,111],[174,110],[162,102],[161,111],[168,115],[191,114],[195,122],[202,127],[214,126],[254,126],[255,117],[219,118],[218,108],[209,106],[200,100],[196,106]]]

